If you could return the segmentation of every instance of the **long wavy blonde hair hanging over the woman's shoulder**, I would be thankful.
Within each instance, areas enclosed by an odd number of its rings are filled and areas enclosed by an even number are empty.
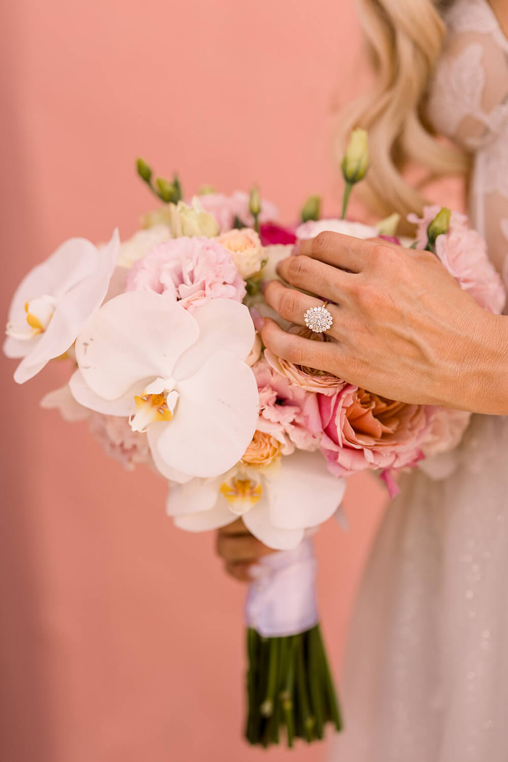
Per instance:
[[[420,187],[404,178],[408,165],[427,169],[426,182],[443,175],[466,175],[470,157],[436,135],[423,107],[439,59],[450,0],[356,0],[376,79],[372,91],[340,112],[337,158],[354,127],[369,132],[371,164],[364,193],[372,210],[421,213]]]

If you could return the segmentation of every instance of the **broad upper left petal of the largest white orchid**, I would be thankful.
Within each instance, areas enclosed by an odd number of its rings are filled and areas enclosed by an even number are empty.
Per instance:
[[[181,306],[161,294],[129,291],[88,322],[76,341],[76,359],[94,392],[117,399],[139,379],[171,377],[178,357],[198,335],[196,321]]]

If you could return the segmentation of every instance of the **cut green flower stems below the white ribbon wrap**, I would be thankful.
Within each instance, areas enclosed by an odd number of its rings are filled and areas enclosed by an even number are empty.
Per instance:
[[[295,738],[323,738],[331,722],[341,728],[333,679],[319,626],[299,635],[264,638],[248,629],[249,743],[278,744],[285,729],[289,747]]]

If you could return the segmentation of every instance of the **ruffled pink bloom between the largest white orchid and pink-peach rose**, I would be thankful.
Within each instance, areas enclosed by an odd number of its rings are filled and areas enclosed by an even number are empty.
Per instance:
[[[258,360],[252,367],[259,389],[260,413],[257,430],[271,434],[283,443],[283,453],[299,450],[317,450],[321,420],[318,395],[309,394],[301,386],[293,386],[289,379],[275,373],[266,360]]]

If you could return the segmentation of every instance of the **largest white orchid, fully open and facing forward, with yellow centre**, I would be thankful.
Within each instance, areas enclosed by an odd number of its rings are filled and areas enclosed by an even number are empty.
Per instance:
[[[75,344],[75,399],[146,431],[155,465],[185,482],[230,469],[257,423],[254,344],[247,307],[211,299],[189,311],[164,295],[111,299]]]

